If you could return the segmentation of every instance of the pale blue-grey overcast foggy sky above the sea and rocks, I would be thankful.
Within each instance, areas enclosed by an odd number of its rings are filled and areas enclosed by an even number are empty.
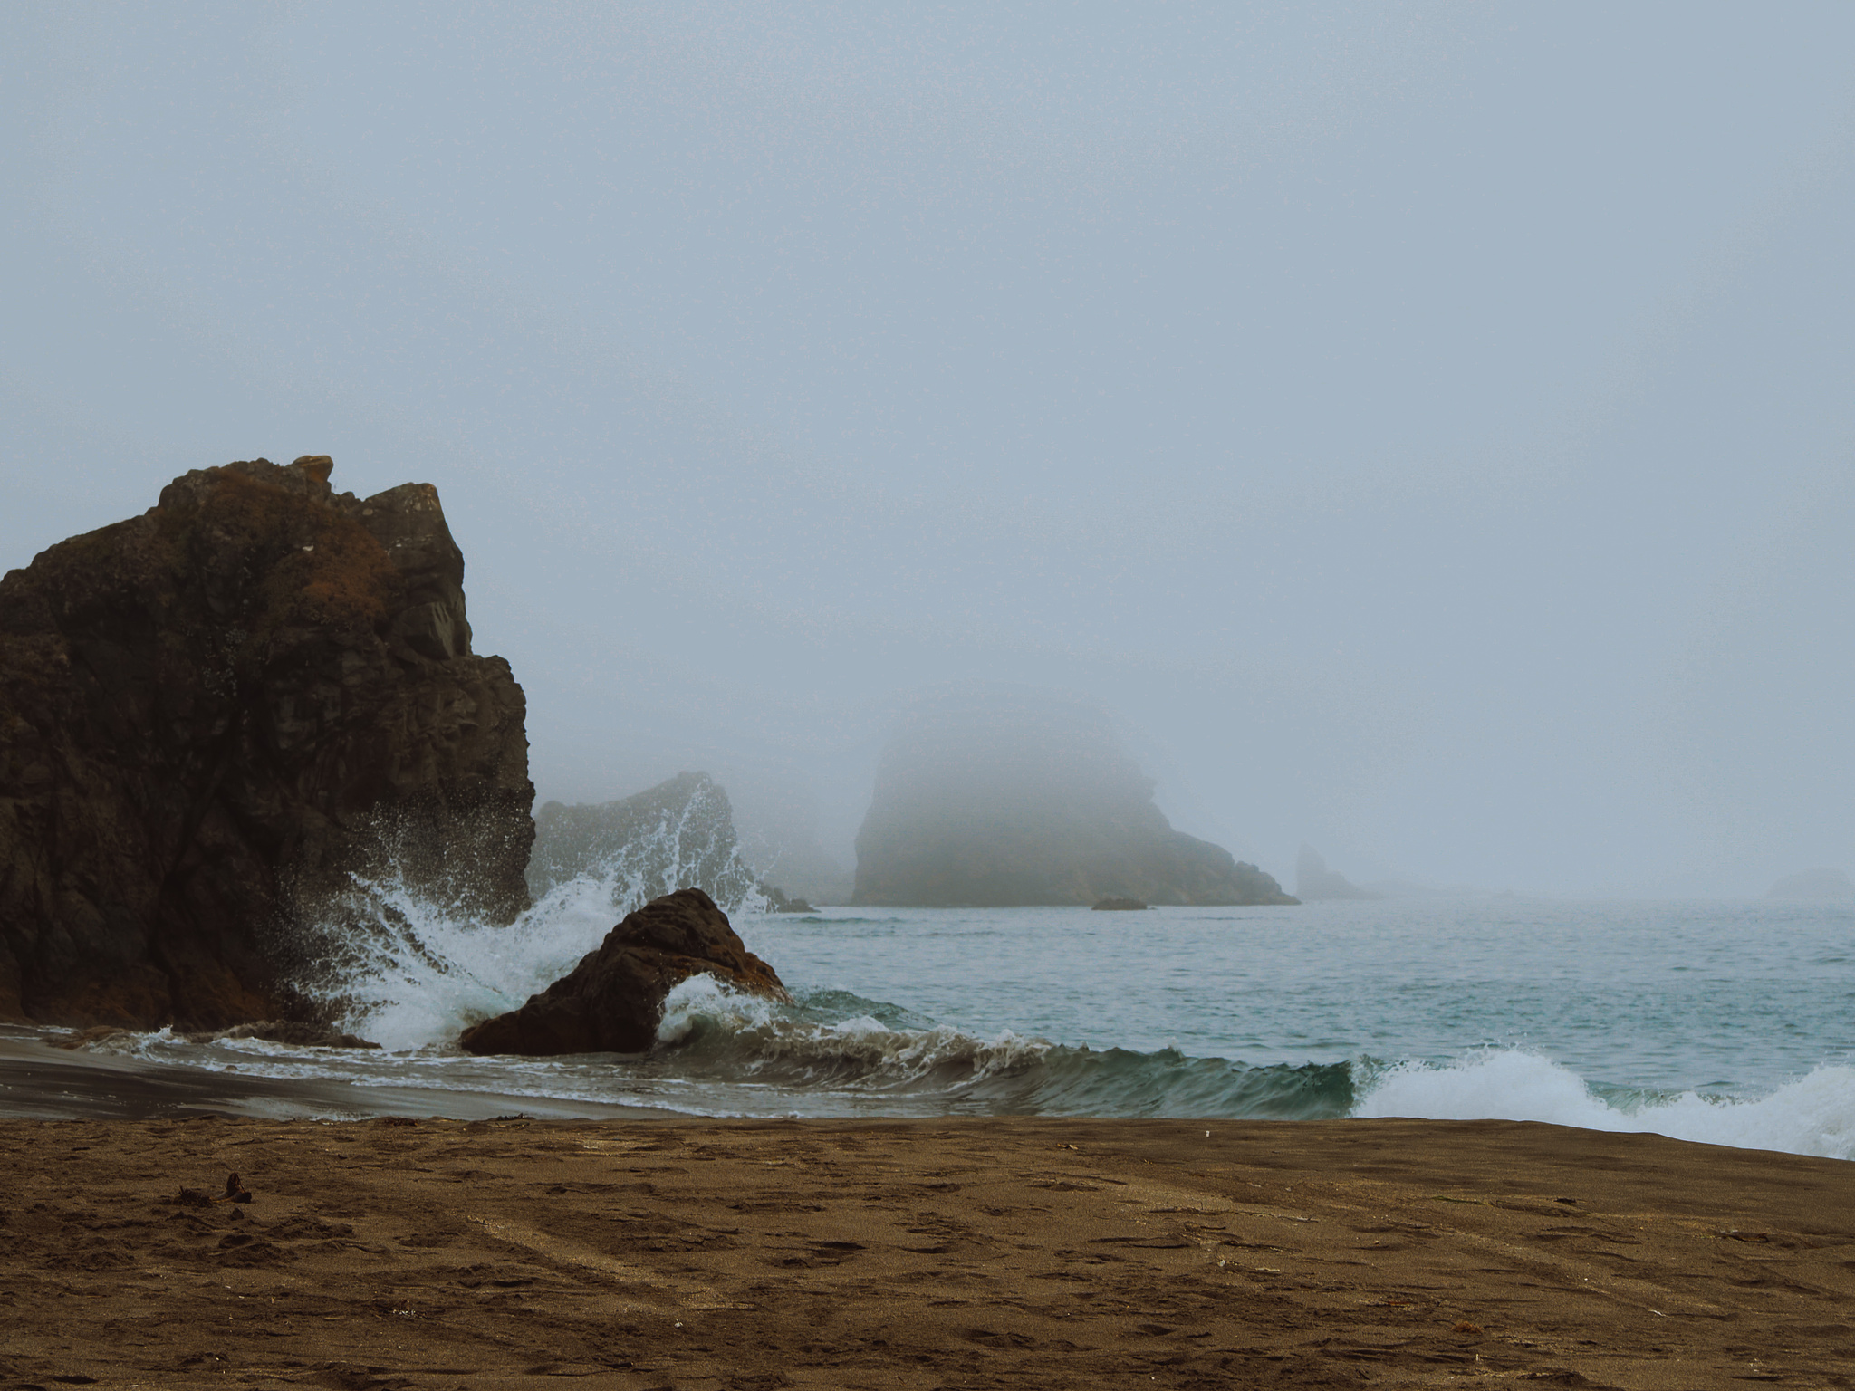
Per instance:
[[[1282,877],[1855,870],[1855,7],[0,11],[0,568],[438,484],[544,798],[1093,699]]]

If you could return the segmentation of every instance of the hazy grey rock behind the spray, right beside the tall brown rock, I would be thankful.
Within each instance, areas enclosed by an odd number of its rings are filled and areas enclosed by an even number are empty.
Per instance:
[[[673,888],[701,888],[738,911],[757,888],[727,792],[709,773],[677,773],[620,801],[545,803],[534,818],[529,892],[542,898],[582,874],[612,883],[620,912]]]

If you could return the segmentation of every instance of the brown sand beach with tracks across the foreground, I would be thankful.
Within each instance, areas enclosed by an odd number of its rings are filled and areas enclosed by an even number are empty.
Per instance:
[[[1855,1371],[1855,1165],[1651,1135],[6,1120],[0,1154],[0,1387],[1742,1387]],[[252,1202],[163,1202],[223,1193],[230,1170]]]

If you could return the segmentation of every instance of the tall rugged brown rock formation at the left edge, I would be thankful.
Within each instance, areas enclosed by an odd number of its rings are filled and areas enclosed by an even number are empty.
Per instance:
[[[521,688],[438,493],[330,467],[197,469],[0,579],[0,1018],[276,1018],[280,924],[388,857],[527,905]]]

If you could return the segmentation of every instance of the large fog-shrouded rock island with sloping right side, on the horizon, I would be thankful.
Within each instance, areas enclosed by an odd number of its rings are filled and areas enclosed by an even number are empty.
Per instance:
[[[1295,903],[1174,831],[1100,716],[1035,699],[922,710],[883,753],[857,833],[863,905]]]

